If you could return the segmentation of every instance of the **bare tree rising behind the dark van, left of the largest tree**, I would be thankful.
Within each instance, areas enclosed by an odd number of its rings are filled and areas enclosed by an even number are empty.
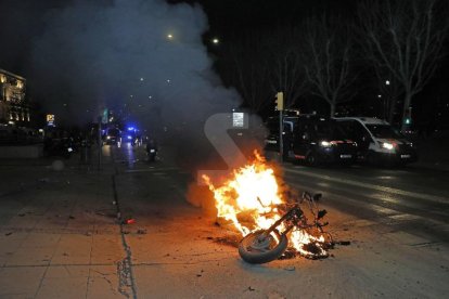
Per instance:
[[[311,17],[305,25],[304,67],[311,93],[324,99],[334,116],[336,105],[355,95],[352,39],[347,22],[338,17]]]

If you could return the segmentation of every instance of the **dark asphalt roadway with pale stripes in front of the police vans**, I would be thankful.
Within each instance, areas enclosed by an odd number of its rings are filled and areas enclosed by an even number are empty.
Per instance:
[[[325,204],[392,230],[449,242],[449,172],[408,166],[308,168],[285,165],[286,182],[324,195]]]

